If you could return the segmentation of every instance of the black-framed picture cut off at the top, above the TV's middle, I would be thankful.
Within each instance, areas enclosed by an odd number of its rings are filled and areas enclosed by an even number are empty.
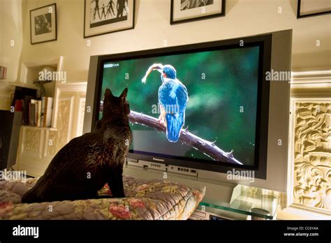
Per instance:
[[[226,14],[226,0],[171,0],[170,24],[220,17]]]

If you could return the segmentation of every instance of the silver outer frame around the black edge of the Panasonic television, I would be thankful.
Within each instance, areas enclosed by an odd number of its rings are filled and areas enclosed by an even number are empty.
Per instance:
[[[284,30],[269,33],[272,36],[271,46],[271,64],[270,69],[273,71],[290,71],[290,59],[292,48],[292,30]],[[266,34],[262,34],[266,35]],[[245,36],[242,38],[258,37]],[[236,38],[240,39],[240,38]],[[226,40],[223,40],[226,41]],[[96,82],[98,80],[98,64],[100,63],[101,56],[92,56],[89,64],[89,76],[87,82],[87,99],[86,106],[89,111],[94,111],[95,98],[96,98]],[[232,179],[230,183],[244,184],[249,186],[256,186],[263,189],[270,189],[274,191],[286,192],[287,184],[287,166],[288,166],[288,122],[289,122],[289,105],[290,105],[290,80],[286,81],[270,81],[269,93],[269,117],[268,117],[268,130],[267,130],[267,161],[265,177],[255,177],[249,179]],[[83,132],[88,133],[94,124],[94,112],[85,112]],[[279,141],[281,141],[279,143]],[[133,158],[132,158],[133,157]],[[154,168],[156,170],[167,170],[168,166],[166,161],[157,161],[161,158],[140,160],[135,156],[128,155],[128,158],[135,161],[129,162],[131,165],[137,165],[137,173],[144,168]],[[155,166],[156,163],[162,164],[159,167]],[[181,166],[185,167],[185,166]],[[231,168],[231,166],[229,166]],[[226,172],[214,172],[209,170],[194,169],[195,172],[191,173],[192,179],[208,179],[218,182],[229,182]],[[235,168],[237,170],[237,168]],[[242,170],[242,169],[238,169]],[[245,169],[247,170],[247,169]],[[180,175],[180,173],[179,173]],[[186,175],[190,175],[188,172]],[[189,178],[189,177],[188,177]]]

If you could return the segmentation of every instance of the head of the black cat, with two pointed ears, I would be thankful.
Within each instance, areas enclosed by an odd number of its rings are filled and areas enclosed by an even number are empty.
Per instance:
[[[127,117],[130,113],[130,107],[126,96],[128,94],[128,88],[122,91],[119,97],[112,94],[110,89],[105,89],[105,98],[103,99],[103,117]]]

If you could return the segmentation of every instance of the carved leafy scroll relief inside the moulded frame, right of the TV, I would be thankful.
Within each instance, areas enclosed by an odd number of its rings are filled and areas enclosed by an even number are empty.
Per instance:
[[[331,212],[331,103],[295,102],[293,203]]]

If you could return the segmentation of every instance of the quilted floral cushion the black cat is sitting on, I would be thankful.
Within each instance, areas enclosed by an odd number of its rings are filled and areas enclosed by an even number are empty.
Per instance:
[[[205,187],[124,176],[126,198],[21,203],[36,181],[0,182],[0,219],[188,219],[205,196]],[[111,196],[108,184],[98,194]]]

